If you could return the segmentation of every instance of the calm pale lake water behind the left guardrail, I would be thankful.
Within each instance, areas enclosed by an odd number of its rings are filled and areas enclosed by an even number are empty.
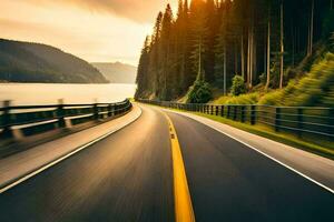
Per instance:
[[[56,104],[65,103],[118,102],[132,98],[135,84],[39,84],[0,83],[0,107],[2,101],[12,104]]]

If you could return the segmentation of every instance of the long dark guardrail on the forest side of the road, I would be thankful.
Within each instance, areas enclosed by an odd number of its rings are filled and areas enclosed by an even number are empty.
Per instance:
[[[167,101],[138,100],[143,103],[224,117],[243,123],[264,124],[276,132],[293,133],[299,138],[321,137],[334,142],[334,108],[214,105]]]

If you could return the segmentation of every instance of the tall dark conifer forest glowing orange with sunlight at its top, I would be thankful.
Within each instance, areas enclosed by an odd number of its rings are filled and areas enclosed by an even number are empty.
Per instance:
[[[176,13],[170,6],[158,13],[146,38],[136,97],[207,102],[213,91],[297,83],[333,50],[333,0],[179,0]]]

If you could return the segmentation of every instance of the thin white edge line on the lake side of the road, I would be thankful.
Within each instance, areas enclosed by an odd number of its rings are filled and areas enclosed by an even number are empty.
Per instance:
[[[18,184],[20,184],[20,183],[22,183],[22,182],[29,180],[30,178],[32,178],[32,176],[35,176],[35,175],[41,173],[42,171],[45,171],[45,170],[47,170],[47,169],[49,169],[49,168],[52,168],[52,167],[56,165],[57,163],[59,163],[59,162],[61,162],[61,161],[63,161],[63,160],[70,158],[71,155],[73,155],[73,154],[80,152],[81,150],[84,150],[84,149],[86,149],[86,148],[88,148],[88,147],[90,147],[90,145],[92,145],[92,144],[95,144],[95,143],[101,141],[101,140],[104,140],[105,138],[109,137],[110,134],[112,134],[112,133],[115,133],[115,132],[117,132],[117,131],[124,129],[125,127],[131,124],[132,122],[135,122],[136,120],[138,120],[138,119],[141,117],[141,114],[143,114],[141,108],[140,108],[139,105],[138,105],[138,108],[139,108],[139,110],[140,110],[139,115],[136,117],[136,118],[135,118],[134,120],[131,120],[130,122],[128,122],[127,124],[121,125],[121,127],[119,127],[119,128],[117,128],[117,129],[115,129],[115,130],[112,130],[112,131],[110,131],[110,132],[108,132],[108,133],[106,133],[106,134],[104,134],[104,135],[101,135],[101,137],[99,137],[99,138],[97,138],[97,139],[95,139],[95,140],[88,142],[88,143],[84,144],[84,145],[80,145],[79,148],[77,148],[76,150],[71,151],[70,153],[68,153],[68,154],[66,154],[66,155],[63,155],[63,157],[61,157],[61,158],[59,158],[59,159],[57,159],[57,160],[55,160],[55,161],[48,163],[47,165],[41,167],[40,169],[38,169],[38,170],[36,170],[36,171],[33,171],[33,172],[31,172],[31,173],[28,173],[27,175],[24,175],[24,176],[22,176],[22,178],[20,178],[20,179],[18,179],[18,180],[16,180],[14,182],[12,182],[12,183],[6,185],[4,188],[0,189],[0,194],[1,194],[1,193],[4,193],[6,191],[10,190],[11,188],[13,188],[13,186],[16,186],[16,185],[18,185]]]

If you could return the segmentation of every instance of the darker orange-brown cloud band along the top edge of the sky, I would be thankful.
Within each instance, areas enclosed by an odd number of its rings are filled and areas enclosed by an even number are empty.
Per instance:
[[[24,0],[22,0],[24,1]],[[158,13],[169,2],[177,0],[26,0],[38,4],[62,3],[72,4],[89,11],[114,13],[139,23],[151,23]]]

